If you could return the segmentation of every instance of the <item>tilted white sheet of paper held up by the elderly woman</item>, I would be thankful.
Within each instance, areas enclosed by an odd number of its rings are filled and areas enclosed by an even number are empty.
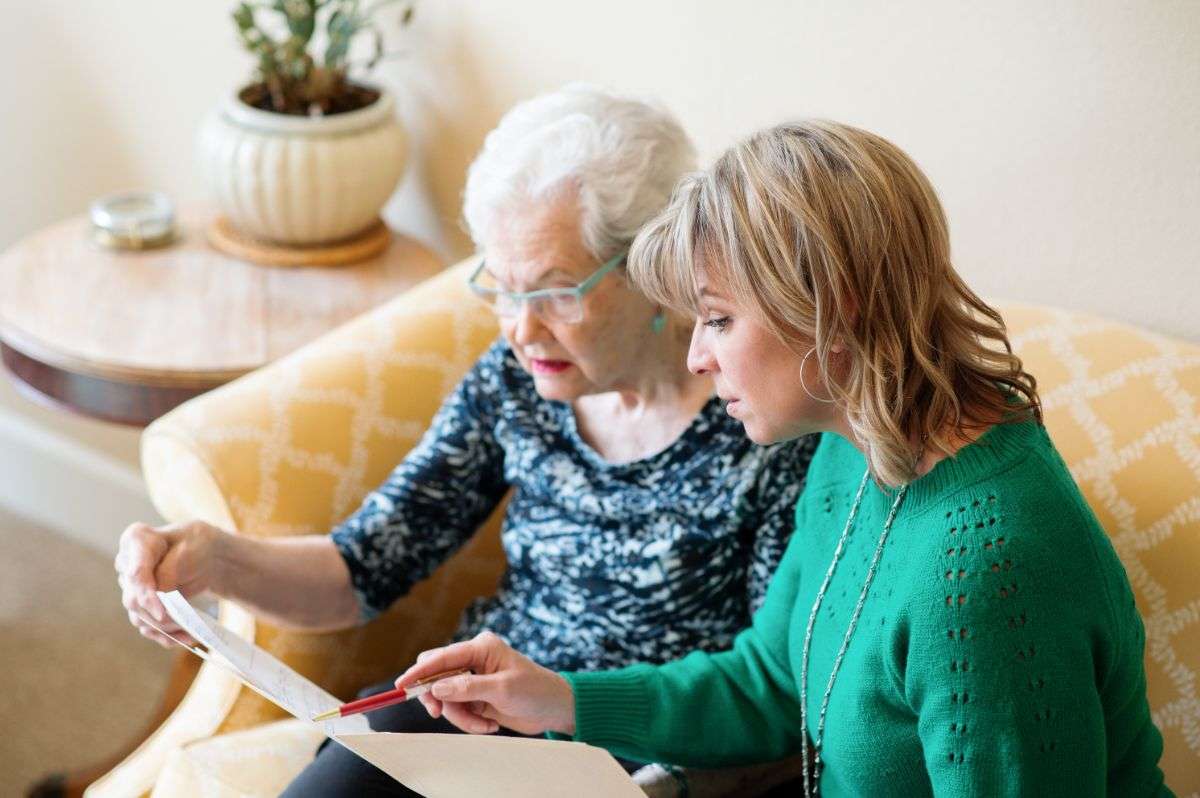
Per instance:
[[[270,701],[288,710],[296,718],[313,722],[312,716],[341,706],[335,696],[304,678],[290,667],[275,659],[258,646],[248,643],[233,634],[211,617],[199,612],[178,590],[158,593],[167,612],[175,623],[209,649],[210,655],[220,656],[230,666],[238,677]],[[336,718],[320,724],[313,724],[328,737],[340,733],[367,733],[371,725],[366,715]]]

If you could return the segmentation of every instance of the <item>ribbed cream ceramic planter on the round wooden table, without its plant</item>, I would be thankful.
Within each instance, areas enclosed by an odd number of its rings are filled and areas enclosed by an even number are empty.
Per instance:
[[[404,170],[395,101],[293,116],[229,96],[200,127],[198,160],[221,212],[266,241],[325,244],[368,227]]]

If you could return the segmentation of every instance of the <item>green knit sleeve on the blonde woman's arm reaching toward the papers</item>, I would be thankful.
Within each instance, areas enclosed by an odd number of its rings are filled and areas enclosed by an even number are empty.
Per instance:
[[[799,696],[787,655],[798,578],[793,536],[762,608],[732,649],[564,673],[575,691],[575,739],[625,758],[707,768],[799,750]]]

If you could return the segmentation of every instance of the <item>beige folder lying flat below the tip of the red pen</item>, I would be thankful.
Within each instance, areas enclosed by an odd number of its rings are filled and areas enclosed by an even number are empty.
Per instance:
[[[493,734],[338,734],[337,740],[432,798],[646,798],[604,749]]]

